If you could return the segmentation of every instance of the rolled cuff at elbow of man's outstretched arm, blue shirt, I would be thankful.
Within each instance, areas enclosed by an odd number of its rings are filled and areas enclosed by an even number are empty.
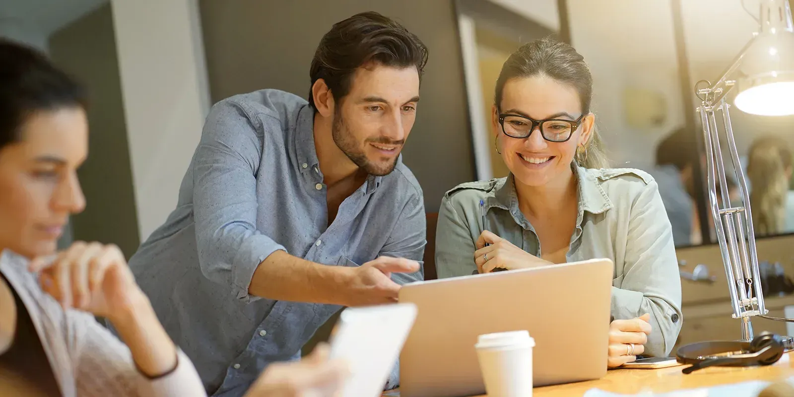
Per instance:
[[[234,256],[232,263],[232,283],[237,299],[243,303],[251,303],[260,299],[248,292],[251,278],[256,267],[276,251],[287,252],[287,249],[263,234],[251,236],[243,241],[240,248],[237,249],[237,255]]]

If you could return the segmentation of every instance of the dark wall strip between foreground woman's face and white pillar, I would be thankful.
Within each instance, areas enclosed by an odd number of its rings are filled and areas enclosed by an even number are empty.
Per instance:
[[[89,155],[78,173],[87,206],[71,219],[74,238],[114,243],[129,258],[140,241],[110,5],[53,33],[49,49],[90,100]]]

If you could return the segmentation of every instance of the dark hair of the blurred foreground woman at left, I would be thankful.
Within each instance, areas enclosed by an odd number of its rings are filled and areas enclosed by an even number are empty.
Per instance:
[[[0,148],[21,139],[19,129],[40,110],[86,107],[86,92],[44,54],[0,38]]]

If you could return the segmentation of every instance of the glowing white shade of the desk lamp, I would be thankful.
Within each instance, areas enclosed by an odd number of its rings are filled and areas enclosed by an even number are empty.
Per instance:
[[[788,1],[761,0],[761,33],[747,48],[734,104],[749,114],[794,114],[794,29]]]

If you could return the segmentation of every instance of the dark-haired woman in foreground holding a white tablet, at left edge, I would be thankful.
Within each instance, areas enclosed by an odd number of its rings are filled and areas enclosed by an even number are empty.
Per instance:
[[[30,48],[0,40],[0,391],[36,396],[206,395],[114,245],[56,253],[85,206],[83,89]],[[108,318],[121,341],[94,320]],[[122,343],[123,341],[123,343]],[[273,365],[249,395],[332,395],[341,367]]]

